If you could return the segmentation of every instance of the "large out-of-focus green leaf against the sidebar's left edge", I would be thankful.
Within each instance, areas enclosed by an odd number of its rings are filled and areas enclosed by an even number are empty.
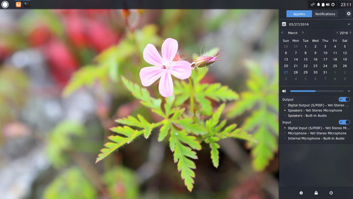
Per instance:
[[[233,118],[252,111],[242,128],[252,132],[257,140],[257,143],[248,142],[247,145],[252,148],[254,170],[262,171],[278,150],[278,77],[275,76],[270,81],[259,70],[259,66],[252,62],[247,63],[247,67],[250,69],[250,78],[247,81],[249,90],[240,94],[240,100],[234,103],[233,109],[227,114]],[[239,133],[235,136],[247,135]]]

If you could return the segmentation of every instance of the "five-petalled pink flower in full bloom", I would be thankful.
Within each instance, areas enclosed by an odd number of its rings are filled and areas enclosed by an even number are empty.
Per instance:
[[[159,92],[168,97],[173,94],[173,81],[171,75],[179,79],[187,79],[191,76],[191,64],[187,61],[173,61],[178,53],[178,41],[167,38],[162,44],[162,57],[152,44],[147,44],[143,51],[143,59],[153,66],[145,67],[140,71],[141,83],[150,86],[159,80]]]

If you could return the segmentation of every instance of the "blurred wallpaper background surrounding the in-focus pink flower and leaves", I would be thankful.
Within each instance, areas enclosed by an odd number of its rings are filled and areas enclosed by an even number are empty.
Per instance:
[[[278,198],[277,10],[1,10],[0,27],[2,198]],[[240,93],[223,117],[258,141],[222,140],[217,169],[203,146],[191,193],[153,133],[95,164],[115,119],[150,114],[120,75],[140,84],[168,37],[189,62],[223,53],[202,82]]]

